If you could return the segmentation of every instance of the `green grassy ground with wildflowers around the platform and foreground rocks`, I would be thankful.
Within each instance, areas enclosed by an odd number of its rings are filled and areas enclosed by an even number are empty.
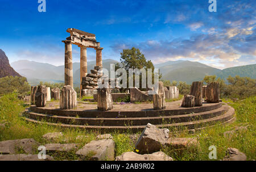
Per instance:
[[[195,134],[188,134],[187,131],[177,133],[179,137],[197,137],[200,143],[200,149],[189,148],[179,150],[163,148],[163,152],[174,158],[174,160],[209,160],[209,146],[215,145],[217,148],[217,160],[225,156],[227,148],[237,148],[245,153],[247,160],[255,159],[255,102],[256,96],[246,98],[243,101],[233,102],[232,100],[224,100],[236,110],[236,122],[228,126],[217,125],[214,127],[206,128],[203,131],[196,132]],[[16,98],[15,94],[7,94],[0,98],[0,123],[6,123],[5,128],[0,127],[0,141],[33,138],[39,141],[42,145],[49,143],[47,140],[42,139],[42,136],[47,132],[63,132],[63,137],[60,137],[55,143],[77,143],[79,147],[95,140],[98,132],[88,132],[74,128],[61,128],[48,126],[46,124],[28,123],[20,116],[23,110],[27,107],[22,101]],[[225,139],[223,133],[232,130],[236,126],[247,126],[246,132],[240,132],[237,136],[232,137],[230,140]],[[115,154],[121,155],[123,152],[133,151],[134,143],[130,137],[118,132],[111,133],[115,141]],[[86,135],[81,140],[76,140],[79,135]],[[75,152],[67,154],[52,154],[55,160],[77,160]]]

